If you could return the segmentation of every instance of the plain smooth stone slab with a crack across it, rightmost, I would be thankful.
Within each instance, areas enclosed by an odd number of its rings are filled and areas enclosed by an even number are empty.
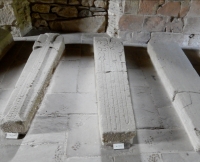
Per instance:
[[[200,150],[200,78],[177,43],[148,44],[148,53],[196,151]]]

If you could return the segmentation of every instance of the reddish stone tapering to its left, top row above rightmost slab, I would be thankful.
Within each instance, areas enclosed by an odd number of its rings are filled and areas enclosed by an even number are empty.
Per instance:
[[[158,9],[157,14],[164,16],[178,17],[180,9],[181,9],[181,2],[169,1]]]

